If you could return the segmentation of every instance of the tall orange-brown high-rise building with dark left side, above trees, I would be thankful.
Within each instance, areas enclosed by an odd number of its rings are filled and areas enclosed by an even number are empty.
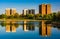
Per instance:
[[[51,13],[51,5],[50,4],[41,4],[39,5],[39,13],[43,15]]]

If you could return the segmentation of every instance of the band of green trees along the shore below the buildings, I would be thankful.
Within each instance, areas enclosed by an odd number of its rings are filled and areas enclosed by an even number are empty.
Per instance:
[[[35,19],[35,20],[60,20],[60,12],[58,13],[51,13],[46,14],[42,16],[42,14],[27,14],[27,15],[19,15],[18,13],[10,16],[7,16],[6,14],[1,14],[0,19]]]

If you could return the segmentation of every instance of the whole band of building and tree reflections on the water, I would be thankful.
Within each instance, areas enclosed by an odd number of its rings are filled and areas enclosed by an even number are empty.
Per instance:
[[[22,21],[22,22],[17,22],[17,21],[5,21],[5,22],[0,22],[0,25],[2,27],[5,27],[6,32],[16,32],[17,28],[19,28],[20,25],[22,25],[22,29],[24,32],[28,31],[35,31],[36,28],[38,28],[38,34],[40,36],[51,36],[51,31],[52,27],[57,27],[55,24],[46,24],[46,21]]]

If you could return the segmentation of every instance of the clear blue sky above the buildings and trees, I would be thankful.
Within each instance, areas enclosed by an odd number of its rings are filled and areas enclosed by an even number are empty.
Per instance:
[[[51,4],[52,12],[60,10],[60,0],[0,0],[0,14],[5,13],[6,8],[16,8],[18,13],[23,9],[35,9],[38,13],[40,4]]]

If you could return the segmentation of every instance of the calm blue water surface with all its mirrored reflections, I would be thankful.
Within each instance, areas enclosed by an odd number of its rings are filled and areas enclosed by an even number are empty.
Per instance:
[[[0,39],[60,39],[60,25],[45,21],[0,22]]]

